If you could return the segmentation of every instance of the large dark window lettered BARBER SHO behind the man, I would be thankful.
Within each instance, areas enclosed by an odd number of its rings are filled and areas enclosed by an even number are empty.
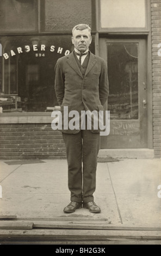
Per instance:
[[[93,36],[90,47],[93,53],[94,46]],[[45,112],[48,107],[57,106],[54,66],[58,58],[73,50],[71,35],[3,36],[2,48],[3,112]]]

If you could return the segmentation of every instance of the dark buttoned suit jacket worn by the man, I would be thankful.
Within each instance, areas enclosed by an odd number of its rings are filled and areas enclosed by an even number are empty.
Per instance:
[[[64,106],[68,106],[69,111],[94,111],[103,110],[104,103],[108,97],[108,76],[107,66],[101,57],[97,57],[91,52],[88,66],[83,77],[74,53],[58,59],[55,65],[55,94],[64,120]],[[69,119],[70,120],[70,119]],[[62,130],[65,133],[77,133],[79,130]],[[93,124],[92,132],[94,130]]]

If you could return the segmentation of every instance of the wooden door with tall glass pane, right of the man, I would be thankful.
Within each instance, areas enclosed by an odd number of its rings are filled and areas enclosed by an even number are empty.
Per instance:
[[[100,38],[108,66],[110,133],[101,148],[147,148],[146,40]]]

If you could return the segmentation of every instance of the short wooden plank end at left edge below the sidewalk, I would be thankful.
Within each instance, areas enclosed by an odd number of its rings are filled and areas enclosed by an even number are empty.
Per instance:
[[[0,221],[0,229],[32,229],[32,222]]]

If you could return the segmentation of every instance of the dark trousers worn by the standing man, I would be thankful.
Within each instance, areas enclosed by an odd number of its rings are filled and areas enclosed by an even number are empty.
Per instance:
[[[63,138],[66,147],[71,201],[83,201],[84,203],[93,201],[100,133],[80,130],[75,134],[63,133]]]

